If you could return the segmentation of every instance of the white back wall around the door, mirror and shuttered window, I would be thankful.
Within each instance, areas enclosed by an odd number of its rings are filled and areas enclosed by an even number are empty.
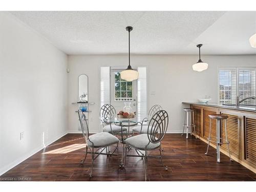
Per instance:
[[[182,101],[197,101],[210,95],[212,102],[218,100],[217,67],[224,66],[254,66],[256,55],[219,56],[203,55],[203,61],[209,68],[203,72],[192,70],[197,62],[197,55],[132,55],[132,67],[148,67],[148,103],[149,107],[158,103],[168,112],[170,125],[167,132],[180,133],[183,123],[184,105]],[[127,66],[127,55],[69,55],[69,131],[77,132],[76,106],[71,102],[77,101],[78,75],[87,74],[89,77],[89,101],[95,102],[90,106],[89,127],[91,132],[99,131],[99,79],[100,66]],[[151,95],[155,92],[155,95]]]

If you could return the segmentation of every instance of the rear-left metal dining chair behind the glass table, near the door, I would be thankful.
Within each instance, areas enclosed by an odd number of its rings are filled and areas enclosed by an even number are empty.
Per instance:
[[[116,110],[111,104],[104,104],[100,108],[100,120],[103,125],[103,132],[111,133],[112,135],[116,135],[121,131],[126,132],[127,128],[115,125],[110,123],[110,119],[116,116]]]

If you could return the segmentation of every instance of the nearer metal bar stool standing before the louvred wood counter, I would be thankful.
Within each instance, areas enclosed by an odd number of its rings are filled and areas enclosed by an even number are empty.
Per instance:
[[[208,137],[208,145],[207,145],[207,151],[205,153],[205,155],[208,155],[208,148],[209,148],[209,144],[211,140],[210,134],[211,134],[211,119],[216,119],[216,141],[212,141],[216,143],[216,151],[217,151],[217,162],[220,163],[220,146],[221,144],[227,144],[227,150],[228,150],[228,155],[230,158],[230,161],[232,161],[231,156],[230,156],[230,152],[229,152],[229,140],[227,139],[227,115],[223,115],[223,114],[212,114],[212,115],[208,115],[210,118],[210,127],[209,127],[209,137]],[[225,120],[225,136],[226,136],[226,142],[222,142],[223,138],[221,137],[221,121]]]

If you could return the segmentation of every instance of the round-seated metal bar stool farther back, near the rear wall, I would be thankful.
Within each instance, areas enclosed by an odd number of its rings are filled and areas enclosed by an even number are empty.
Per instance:
[[[183,109],[184,110],[184,124],[183,124],[183,131],[182,134],[184,134],[184,128],[185,126],[187,127],[187,134],[186,134],[186,139],[188,138],[188,127],[190,128],[190,135],[192,135],[193,129],[196,136],[196,125],[195,125],[195,118],[194,118],[194,110],[193,109]],[[192,117],[192,119],[191,119]]]

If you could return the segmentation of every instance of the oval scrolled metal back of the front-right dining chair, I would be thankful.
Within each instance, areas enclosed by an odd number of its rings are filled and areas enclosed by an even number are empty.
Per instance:
[[[163,138],[167,131],[169,123],[169,117],[166,111],[160,110],[156,112],[151,120],[150,123],[152,126],[152,129],[147,129],[147,137],[152,143],[158,143]],[[150,125],[148,125],[150,127]]]

